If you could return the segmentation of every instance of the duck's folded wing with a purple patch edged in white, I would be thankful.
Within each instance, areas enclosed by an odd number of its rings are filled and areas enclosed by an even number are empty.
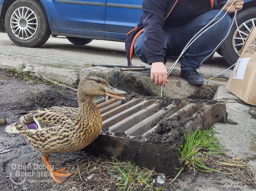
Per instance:
[[[70,122],[72,116],[78,111],[73,107],[50,107],[23,113],[17,118],[27,129],[41,129],[58,126]]]

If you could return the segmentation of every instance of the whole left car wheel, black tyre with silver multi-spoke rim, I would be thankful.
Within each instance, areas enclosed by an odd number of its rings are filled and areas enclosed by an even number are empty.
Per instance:
[[[39,47],[51,35],[44,7],[36,0],[17,0],[11,4],[5,15],[5,29],[21,47]]]

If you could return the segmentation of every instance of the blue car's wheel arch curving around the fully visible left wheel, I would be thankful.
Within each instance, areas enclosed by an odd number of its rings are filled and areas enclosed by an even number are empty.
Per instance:
[[[10,5],[12,3],[14,3],[15,1],[16,0],[4,0],[3,4],[2,4],[2,7],[0,6],[0,32],[1,33],[6,32],[5,31],[5,26],[4,26],[5,15],[6,15],[6,12],[7,12],[8,8],[10,7]],[[46,5],[46,2],[44,0],[37,0],[37,1],[40,2],[43,5],[44,10],[47,14],[47,18],[48,18],[50,28],[52,28],[53,22],[52,22],[52,18],[51,18],[51,14],[49,12],[49,9]]]

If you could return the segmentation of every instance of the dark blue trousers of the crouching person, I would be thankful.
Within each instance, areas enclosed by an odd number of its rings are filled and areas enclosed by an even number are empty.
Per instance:
[[[180,28],[165,28],[165,64],[167,62],[167,56],[179,56],[187,45],[189,40],[207,25],[221,10],[208,11],[189,23]],[[216,23],[225,12],[221,12],[219,16],[207,27]],[[228,34],[232,20],[227,14],[221,21],[211,27],[209,30],[204,32],[195,42],[187,49],[184,54],[184,58],[181,62],[181,70],[198,69],[201,62],[209,56],[217,45],[225,38]],[[204,31],[204,30],[203,30]],[[136,56],[144,63],[147,63],[144,52],[144,38],[145,34],[141,33],[136,41],[134,42],[134,52]],[[214,53],[213,53],[214,54]],[[213,54],[211,56],[213,56]],[[209,58],[211,58],[209,56]]]

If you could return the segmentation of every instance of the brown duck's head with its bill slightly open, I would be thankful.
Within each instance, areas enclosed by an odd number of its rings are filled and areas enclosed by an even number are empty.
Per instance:
[[[79,82],[77,99],[78,102],[93,101],[96,95],[108,95],[112,98],[125,99],[120,96],[121,94],[127,93],[111,87],[103,73],[89,71]]]

